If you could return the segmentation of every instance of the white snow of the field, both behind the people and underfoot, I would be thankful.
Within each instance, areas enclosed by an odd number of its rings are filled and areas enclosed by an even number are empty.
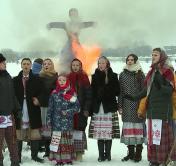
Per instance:
[[[176,66],[173,62],[174,67]],[[141,65],[143,67],[144,73],[147,73],[149,70],[150,62],[141,62]],[[120,73],[123,69],[124,62],[118,62],[118,61],[112,61],[111,62],[111,67],[113,70],[117,73]],[[16,76],[18,72],[20,71],[20,65],[18,64],[7,64],[7,71],[12,75]],[[121,122],[121,117],[120,119],[120,127],[122,127],[122,122]],[[128,162],[122,162],[121,159],[127,154],[127,148],[124,144],[120,143],[119,139],[113,140],[112,144],[112,160],[110,162],[105,161],[105,162],[98,162],[98,149],[97,149],[97,141],[88,139],[88,151],[86,151],[83,161],[82,162],[74,162],[74,165],[78,166],[148,166],[148,161],[147,161],[147,151],[146,151],[146,145],[144,145],[143,153],[142,153],[142,161],[139,163],[134,163],[133,161],[128,161]],[[42,157],[43,153],[39,153],[39,156]],[[10,166],[10,160],[9,160],[9,155],[8,151],[6,150],[4,153],[4,165],[5,166]],[[49,166],[49,165],[54,165],[54,163],[48,161],[45,159],[44,164],[36,163],[31,160],[30,157],[30,150],[27,150],[27,146],[23,146],[23,152],[22,152],[22,166]]]

